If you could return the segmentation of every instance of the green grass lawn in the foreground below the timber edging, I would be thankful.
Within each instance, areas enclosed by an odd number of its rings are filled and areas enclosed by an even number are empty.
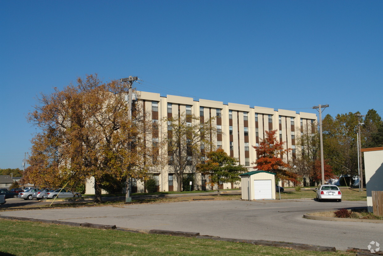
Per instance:
[[[1,255],[355,255],[0,219]]]

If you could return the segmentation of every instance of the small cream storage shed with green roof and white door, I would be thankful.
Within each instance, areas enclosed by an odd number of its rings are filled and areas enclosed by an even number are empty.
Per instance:
[[[266,171],[240,174],[242,200],[275,199],[275,174]]]

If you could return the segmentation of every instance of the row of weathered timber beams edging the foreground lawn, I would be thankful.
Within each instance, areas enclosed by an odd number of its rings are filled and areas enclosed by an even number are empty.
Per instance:
[[[131,232],[131,233],[181,236],[181,237],[198,238],[198,239],[212,239],[212,240],[216,240],[216,241],[226,241],[226,242],[234,242],[234,243],[249,243],[249,244],[254,244],[254,245],[273,246],[273,247],[280,247],[280,248],[291,248],[291,249],[296,249],[296,250],[336,251],[335,247],[330,247],[330,246],[319,246],[319,245],[312,245],[312,244],[288,243],[288,242],[277,242],[277,241],[267,241],[267,240],[221,238],[218,236],[201,236],[200,233],[198,233],[198,232],[185,232],[185,231],[172,231],[172,230],[149,230],[149,231],[130,230],[127,228],[116,227],[116,225],[101,225],[101,224],[93,224],[93,223],[87,223],[87,222],[77,223],[77,222],[58,221],[58,220],[41,220],[41,219],[34,219],[34,218],[13,217],[13,216],[4,216],[4,215],[0,215],[0,218],[6,219],[6,220],[21,220],[21,221],[41,222],[41,223],[47,223],[47,224],[80,226],[80,227],[84,227],[84,228],[119,230],[119,231]]]

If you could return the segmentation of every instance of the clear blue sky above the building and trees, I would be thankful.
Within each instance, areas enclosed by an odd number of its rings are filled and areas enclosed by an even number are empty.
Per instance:
[[[22,168],[36,96],[78,76],[141,91],[383,116],[382,1],[1,1],[0,168]]]

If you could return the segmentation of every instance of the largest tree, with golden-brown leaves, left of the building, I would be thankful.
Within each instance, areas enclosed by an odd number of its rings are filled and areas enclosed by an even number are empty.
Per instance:
[[[103,83],[97,75],[78,78],[60,91],[41,94],[28,121],[41,129],[32,142],[25,181],[47,187],[76,186],[95,178],[95,202],[108,178],[142,178],[152,168],[147,150],[145,113],[128,119],[128,87],[117,80]],[[137,104],[138,105],[138,104]],[[139,106],[136,106],[139,107]],[[134,150],[131,148],[134,147]],[[108,178],[106,178],[108,177]]]

